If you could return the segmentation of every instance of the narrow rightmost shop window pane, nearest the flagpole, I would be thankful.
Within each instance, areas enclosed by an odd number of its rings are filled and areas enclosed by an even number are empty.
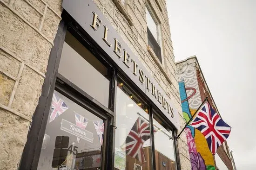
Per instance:
[[[159,119],[153,119],[156,129],[154,133],[156,169],[176,170],[172,131],[160,123],[161,121]]]

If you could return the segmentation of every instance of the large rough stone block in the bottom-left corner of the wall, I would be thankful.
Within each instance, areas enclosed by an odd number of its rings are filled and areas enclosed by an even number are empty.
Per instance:
[[[0,108],[0,170],[16,170],[27,141],[29,122]]]

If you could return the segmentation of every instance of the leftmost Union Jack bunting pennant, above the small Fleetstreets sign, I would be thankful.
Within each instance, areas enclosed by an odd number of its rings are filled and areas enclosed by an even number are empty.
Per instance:
[[[66,103],[54,91],[49,123],[64,113],[67,109],[68,107]]]

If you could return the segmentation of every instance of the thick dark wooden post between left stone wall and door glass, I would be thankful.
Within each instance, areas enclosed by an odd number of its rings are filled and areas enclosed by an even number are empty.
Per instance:
[[[37,169],[66,31],[67,26],[64,21],[61,20],[54,39],[54,46],[50,52],[46,78],[42,86],[39,104],[37,105],[32,117],[27,142],[20,159],[20,170]]]

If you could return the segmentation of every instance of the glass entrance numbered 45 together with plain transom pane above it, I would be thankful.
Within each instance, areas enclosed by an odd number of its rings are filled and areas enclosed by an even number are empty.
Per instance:
[[[109,83],[108,68],[67,31],[38,170],[103,169]]]

